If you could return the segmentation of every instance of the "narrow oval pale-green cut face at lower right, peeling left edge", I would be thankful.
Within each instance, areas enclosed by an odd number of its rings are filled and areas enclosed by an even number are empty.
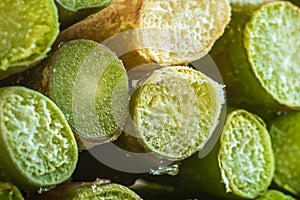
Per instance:
[[[226,192],[255,198],[266,191],[274,155],[263,121],[245,110],[231,112],[220,137],[218,162]]]

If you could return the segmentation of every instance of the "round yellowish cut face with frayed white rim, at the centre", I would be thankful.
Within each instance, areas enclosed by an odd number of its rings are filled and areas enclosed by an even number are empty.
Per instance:
[[[132,102],[141,144],[161,156],[181,160],[202,149],[211,137],[224,92],[222,85],[199,71],[164,67],[148,77]]]

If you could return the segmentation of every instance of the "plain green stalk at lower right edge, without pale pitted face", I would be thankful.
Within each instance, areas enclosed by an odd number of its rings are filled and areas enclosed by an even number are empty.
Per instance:
[[[275,155],[274,182],[281,188],[300,195],[300,113],[280,116],[270,127]]]

